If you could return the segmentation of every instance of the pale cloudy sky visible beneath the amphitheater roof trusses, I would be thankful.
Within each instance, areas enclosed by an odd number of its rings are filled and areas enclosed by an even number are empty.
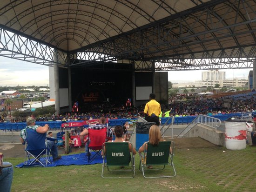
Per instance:
[[[247,79],[252,69],[225,69],[226,79]],[[201,80],[202,72],[197,71],[170,71],[168,81],[172,83],[188,83]],[[27,61],[20,61],[0,56],[0,86],[49,86],[49,69]]]

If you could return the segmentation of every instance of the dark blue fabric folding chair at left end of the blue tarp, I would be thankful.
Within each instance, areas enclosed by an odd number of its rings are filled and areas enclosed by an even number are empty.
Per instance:
[[[47,149],[46,139],[46,133],[26,129],[25,165],[47,166],[48,163],[51,163],[49,156],[51,150]]]

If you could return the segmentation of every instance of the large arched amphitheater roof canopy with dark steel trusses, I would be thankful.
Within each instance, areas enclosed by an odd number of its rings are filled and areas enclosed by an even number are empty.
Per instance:
[[[62,52],[62,61],[67,62],[67,54],[78,64],[100,58],[175,67],[184,60],[256,56],[255,0],[1,0],[0,28],[52,47]],[[6,36],[2,31],[0,55],[33,57],[7,47]],[[89,53],[98,53],[98,60]],[[53,58],[40,60],[47,64]]]

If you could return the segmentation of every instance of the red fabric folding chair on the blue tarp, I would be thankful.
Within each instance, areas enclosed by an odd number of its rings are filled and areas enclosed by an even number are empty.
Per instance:
[[[88,143],[89,150],[91,149],[95,153],[92,158],[90,158],[90,153],[88,153],[88,162],[93,161],[97,155],[101,156],[101,150],[103,143],[107,139],[107,127],[103,129],[88,129],[88,138],[86,142]]]

